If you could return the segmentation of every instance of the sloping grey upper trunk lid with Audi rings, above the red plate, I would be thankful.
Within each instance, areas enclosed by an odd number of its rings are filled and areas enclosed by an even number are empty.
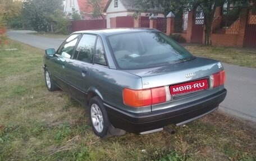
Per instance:
[[[168,66],[127,70],[126,72],[140,76],[143,89],[148,89],[198,80],[222,69],[223,67],[218,61],[196,57],[191,61],[175,63]]]

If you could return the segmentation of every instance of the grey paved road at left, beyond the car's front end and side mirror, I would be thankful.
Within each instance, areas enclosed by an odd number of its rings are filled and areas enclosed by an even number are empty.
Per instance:
[[[55,48],[56,50],[60,47],[61,43],[64,39],[52,39],[52,38],[44,38],[40,36],[31,35],[28,33],[33,33],[33,31],[8,31],[7,36],[10,39],[17,40],[24,44],[29,44],[33,47],[39,49],[49,49]]]

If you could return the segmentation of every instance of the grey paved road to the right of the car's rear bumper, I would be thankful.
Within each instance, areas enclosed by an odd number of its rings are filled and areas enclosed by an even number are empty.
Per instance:
[[[256,122],[256,68],[223,66],[227,76],[227,97],[220,109]]]

